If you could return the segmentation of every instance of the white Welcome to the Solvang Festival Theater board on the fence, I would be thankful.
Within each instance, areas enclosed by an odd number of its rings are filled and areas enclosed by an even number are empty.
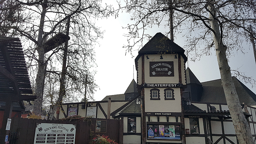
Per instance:
[[[75,144],[76,124],[36,123],[34,144]]]

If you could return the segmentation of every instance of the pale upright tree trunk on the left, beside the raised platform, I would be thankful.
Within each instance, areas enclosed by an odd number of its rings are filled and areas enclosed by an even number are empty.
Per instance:
[[[46,63],[44,61],[44,47],[43,47],[43,34],[44,34],[44,17],[46,13],[46,8],[43,7],[40,26],[38,30],[38,39],[37,39],[37,52],[38,52],[38,72],[36,75],[36,92],[35,95],[37,99],[34,101],[33,112],[36,115],[41,115],[42,101],[44,94],[44,74]]]

